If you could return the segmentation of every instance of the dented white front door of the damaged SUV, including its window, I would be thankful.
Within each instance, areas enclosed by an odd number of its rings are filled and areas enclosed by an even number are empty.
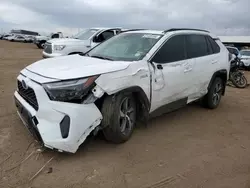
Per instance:
[[[186,36],[167,39],[150,60],[152,65],[152,99],[150,112],[165,113],[187,104],[192,93],[194,62],[187,59]]]

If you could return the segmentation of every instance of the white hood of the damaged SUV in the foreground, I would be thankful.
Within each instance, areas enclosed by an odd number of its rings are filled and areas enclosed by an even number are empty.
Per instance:
[[[130,62],[109,61],[80,55],[37,61],[25,69],[43,77],[67,80],[126,69]]]

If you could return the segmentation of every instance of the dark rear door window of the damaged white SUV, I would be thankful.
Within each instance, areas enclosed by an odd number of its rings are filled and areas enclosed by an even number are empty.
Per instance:
[[[196,58],[208,55],[208,47],[204,35],[187,35],[187,56]]]

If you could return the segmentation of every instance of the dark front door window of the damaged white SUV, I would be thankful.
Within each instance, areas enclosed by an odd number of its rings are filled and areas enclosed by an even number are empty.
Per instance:
[[[169,40],[155,54],[152,61],[155,63],[170,63],[186,59],[185,36],[177,35]]]

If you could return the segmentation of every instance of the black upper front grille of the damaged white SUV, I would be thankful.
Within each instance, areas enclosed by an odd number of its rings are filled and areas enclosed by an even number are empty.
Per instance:
[[[27,89],[23,88],[22,83],[17,81],[18,93],[29,103],[35,110],[38,110],[38,103],[34,90],[30,87]]]

